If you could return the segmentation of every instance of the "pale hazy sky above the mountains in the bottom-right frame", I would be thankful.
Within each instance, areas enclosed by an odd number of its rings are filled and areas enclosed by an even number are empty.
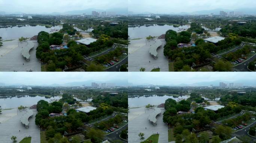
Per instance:
[[[129,72],[133,85],[179,85],[210,81],[256,80],[254,72]],[[207,85],[206,85],[207,86]],[[210,85],[208,85],[210,86]]]

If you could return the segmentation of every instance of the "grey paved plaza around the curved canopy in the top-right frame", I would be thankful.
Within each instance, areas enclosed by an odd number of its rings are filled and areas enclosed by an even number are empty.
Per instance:
[[[158,48],[158,59],[154,59],[149,54],[150,45],[153,45],[155,41],[146,39],[131,40],[128,48],[128,70],[140,71],[143,67],[146,71],[151,71],[154,68],[160,68],[160,71],[169,71],[168,58],[164,56],[164,45],[166,41],[159,39],[162,42],[162,46]],[[149,62],[150,61],[150,62]]]

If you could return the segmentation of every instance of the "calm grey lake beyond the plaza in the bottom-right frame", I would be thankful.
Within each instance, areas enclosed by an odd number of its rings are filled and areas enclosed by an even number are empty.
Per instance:
[[[176,101],[180,101],[182,99],[186,100],[190,96],[189,95],[183,95],[179,97],[174,97],[174,96],[158,96],[158,95],[144,95],[144,96],[139,96],[139,97],[134,97],[134,98],[128,98],[128,105],[129,107],[143,107],[147,104],[151,105],[160,105],[162,103],[165,103],[165,100],[171,98]]]

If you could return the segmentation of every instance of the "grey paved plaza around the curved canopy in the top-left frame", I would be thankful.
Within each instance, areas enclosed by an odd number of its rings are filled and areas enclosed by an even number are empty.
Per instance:
[[[3,42],[0,47],[0,71],[41,71],[41,63],[36,58],[37,41],[34,43],[34,49],[30,51],[30,61],[25,60],[22,55],[22,47],[27,42],[18,42],[18,39],[13,41]],[[24,65],[23,65],[24,64]]]

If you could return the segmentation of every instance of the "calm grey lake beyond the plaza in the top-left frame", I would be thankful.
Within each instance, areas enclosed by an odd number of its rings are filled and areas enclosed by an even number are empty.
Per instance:
[[[3,40],[6,39],[18,39],[23,37],[33,37],[34,35],[37,35],[40,31],[45,31],[48,33],[52,33],[51,29],[57,29],[60,30],[61,26],[52,26],[51,28],[46,28],[45,26],[12,26],[8,28],[0,28],[0,37],[3,38]]]

